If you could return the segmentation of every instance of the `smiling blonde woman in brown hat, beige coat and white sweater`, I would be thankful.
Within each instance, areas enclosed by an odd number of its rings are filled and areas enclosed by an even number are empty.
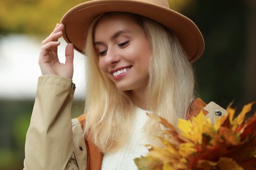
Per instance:
[[[69,42],[64,64],[61,36]],[[87,56],[87,95],[85,115],[70,124],[73,48]],[[214,111],[224,110],[194,99],[191,63],[202,52],[198,27],[167,1],[74,7],[42,42],[24,169],[137,169],[144,144],[160,145],[161,127],[146,112],[177,124],[203,109],[214,120]]]

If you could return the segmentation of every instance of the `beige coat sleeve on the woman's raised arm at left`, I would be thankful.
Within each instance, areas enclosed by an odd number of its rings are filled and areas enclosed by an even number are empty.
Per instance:
[[[74,89],[68,78],[39,77],[26,135],[24,169],[79,169],[71,123]]]

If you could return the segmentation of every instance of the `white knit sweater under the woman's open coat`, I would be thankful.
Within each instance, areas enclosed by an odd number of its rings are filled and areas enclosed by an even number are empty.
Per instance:
[[[131,125],[131,139],[117,152],[104,154],[101,169],[138,169],[134,159],[148,153],[148,149],[144,145],[149,143],[142,128],[148,119],[146,110],[137,108],[135,114],[134,124]]]

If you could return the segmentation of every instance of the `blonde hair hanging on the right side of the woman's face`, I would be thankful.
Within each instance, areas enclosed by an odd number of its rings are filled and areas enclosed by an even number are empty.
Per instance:
[[[186,118],[190,103],[194,99],[192,64],[175,34],[163,25],[144,18],[144,31],[152,44],[147,87],[148,108],[177,126],[179,118]],[[150,141],[157,144],[156,136],[160,136],[160,125],[150,120],[145,129]]]

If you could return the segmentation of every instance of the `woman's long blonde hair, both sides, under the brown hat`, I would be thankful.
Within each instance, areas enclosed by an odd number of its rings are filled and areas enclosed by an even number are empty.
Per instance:
[[[171,31],[154,20],[134,14],[129,15],[134,16],[135,22],[144,29],[152,46],[146,98],[148,110],[176,125],[178,118],[186,118],[187,109],[193,99],[192,65],[186,58],[177,37]],[[129,139],[136,106],[98,67],[98,56],[94,48],[94,29],[101,17],[92,22],[87,33],[85,135],[90,137],[102,152],[110,152],[121,147]],[[160,135],[159,124],[149,120],[145,128],[150,141],[156,142],[156,136]]]

